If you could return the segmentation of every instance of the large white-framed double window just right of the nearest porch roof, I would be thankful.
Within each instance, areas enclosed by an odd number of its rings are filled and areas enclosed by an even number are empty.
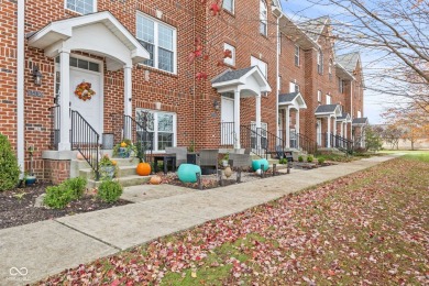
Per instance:
[[[143,64],[175,74],[176,30],[143,14],[138,14],[136,23],[136,37],[151,55]]]

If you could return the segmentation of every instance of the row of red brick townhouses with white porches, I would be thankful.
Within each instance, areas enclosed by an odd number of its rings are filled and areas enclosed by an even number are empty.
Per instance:
[[[1,133],[23,169],[35,147],[38,178],[61,182],[73,150],[94,161],[142,129],[153,152],[363,142],[361,59],[336,55],[328,18],[294,23],[265,0],[224,0],[220,14],[188,0],[1,6]]]

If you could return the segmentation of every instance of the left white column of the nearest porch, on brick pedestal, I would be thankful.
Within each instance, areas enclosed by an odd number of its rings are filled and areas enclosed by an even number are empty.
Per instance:
[[[59,51],[59,106],[61,124],[58,151],[69,151],[70,144],[70,51]]]

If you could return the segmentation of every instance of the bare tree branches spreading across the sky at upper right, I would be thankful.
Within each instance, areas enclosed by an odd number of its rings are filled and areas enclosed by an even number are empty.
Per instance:
[[[308,0],[336,6],[331,21],[337,48],[359,47],[370,59],[366,88],[406,97],[427,111],[429,106],[429,0]],[[306,31],[314,33],[312,31]],[[396,101],[396,100],[393,100]],[[387,102],[386,102],[387,103]]]

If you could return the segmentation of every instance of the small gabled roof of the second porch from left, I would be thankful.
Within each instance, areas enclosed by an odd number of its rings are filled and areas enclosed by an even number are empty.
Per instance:
[[[272,89],[265,76],[257,66],[243,69],[228,69],[211,80],[211,86],[218,92],[246,91],[252,96],[261,96]]]

